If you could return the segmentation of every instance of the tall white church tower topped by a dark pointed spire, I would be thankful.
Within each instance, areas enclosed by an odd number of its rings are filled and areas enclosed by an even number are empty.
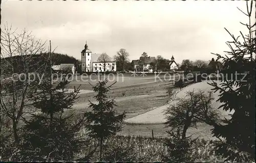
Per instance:
[[[88,49],[88,44],[84,45],[84,49],[81,52],[81,63],[82,63],[82,72],[92,71],[92,52]]]

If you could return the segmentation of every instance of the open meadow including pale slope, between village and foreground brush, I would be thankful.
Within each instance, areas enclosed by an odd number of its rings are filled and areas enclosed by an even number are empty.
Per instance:
[[[177,97],[184,96],[187,90],[202,89],[207,91],[210,90],[211,87],[207,84],[207,82],[200,82],[186,86],[182,88],[182,90],[179,90],[180,88],[173,85],[173,80],[176,75],[172,75],[172,80],[170,81],[158,80],[156,82],[152,82],[155,78],[154,74],[150,74],[144,78],[140,76],[131,78],[130,76],[131,74],[124,74],[123,82],[117,81],[109,92],[110,98],[113,98],[116,101],[117,106],[115,109],[117,112],[126,112],[124,128],[118,133],[119,135],[125,136],[152,137],[152,130],[154,132],[154,137],[168,136],[166,133],[168,128],[165,128],[165,125],[163,124],[165,122],[163,111],[167,108],[168,105],[166,105],[166,102],[169,100],[166,93],[167,87],[172,87],[173,91],[177,91]],[[163,78],[164,75],[161,75],[160,79]],[[97,83],[97,81],[93,82],[93,85]],[[112,83],[114,83],[114,81],[110,83],[108,82],[108,85]],[[80,83],[75,81],[69,84],[70,88],[78,85],[80,85]],[[89,82],[81,84],[80,88],[84,87],[92,90],[92,86],[89,84]],[[95,95],[96,92],[80,94],[73,106],[75,111],[84,112],[91,110],[88,108],[89,100],[95,103],[96,101],[93,98]],[[215,96],[215,98],[218,98],[218,96]],[[218,102],[214,102],[213,105],[216,108],[220,104]],[[227,113],[225,115],[227,115]],[[211,135],[211,129],[211,126],[204,123],[199,123],[197,128],[189,128],[187,134],[191,135],[193,138],[200,137],[204,139],[215,139]]]

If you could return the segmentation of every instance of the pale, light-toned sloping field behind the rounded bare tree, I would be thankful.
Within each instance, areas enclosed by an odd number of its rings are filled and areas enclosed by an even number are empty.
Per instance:
[[[217,82],[218,84],[220,84],[220,82]],[[187,87],[184,87],[182,90],[180,90],[177,95],[176,98],[182,98],[185,96],[187,91],[191,91],[191,90],[195,90],[195,91],[199,91],[199,90],[203,90],[205,92],[207,91],[211,91],[210,89],[213,88],[211,85],[207,84],[207,82],[200,82],[200,83],[195,83],[192,85],[189,85]],[[212,102],[212,107],[217,109],[221,103],[217,102],[217,100],[219,99],[219,92],[215,92],[213,94],[215,100]],[[175,104],[177,101],[173,101],[170,104]],[[165,120],[165,115],[164,115],[164,111],[165,109],[168,107],[168,105],[164,105],[161,107],[158,107],[154,110],[148,111],[144,114],[140,114],[136,117],[133,117],[131,119],[127,119],[125,120],[126,123],[132,123],[132,124],[158,124],[158,123],[164,123]],[[221,119],[225,118],[230,118],[230,115],[228,114],[232,114],[232,112],[228,112],[228,111],[224,111],[222,109],[219,109],[219,111],[221,111]]]

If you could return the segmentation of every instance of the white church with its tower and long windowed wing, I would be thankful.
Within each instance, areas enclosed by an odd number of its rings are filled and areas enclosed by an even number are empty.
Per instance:
[[[104,63],[97,61],[100,55],[101,54],[92,54],[86,43],[81,52],[82,72],[104,72]],[[105,72],[116,72],[116,62],[105,63]]]

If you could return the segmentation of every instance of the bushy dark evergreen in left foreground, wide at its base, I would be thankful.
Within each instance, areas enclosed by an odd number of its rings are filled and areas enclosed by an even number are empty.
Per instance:
[[[68,79],[63,74],[45,74],[39,84],[37,79],[38,82],[31,85],[34,91],[28,95],[28,99],[31,107],[38,111],[32,113],[29,120],[25,120],[22,128],[22,150],[19,153],[22,160],[73,160],[74,153],[87,144],[86,139],[79,138],[85,116],[66,111],[73,110],[72,105],[78,98],[79,87],[68,92],[65,88],[69,84],[68,80],[62,80],[53,87],[52,81],[56,80],[53,77],[60,76]]]

